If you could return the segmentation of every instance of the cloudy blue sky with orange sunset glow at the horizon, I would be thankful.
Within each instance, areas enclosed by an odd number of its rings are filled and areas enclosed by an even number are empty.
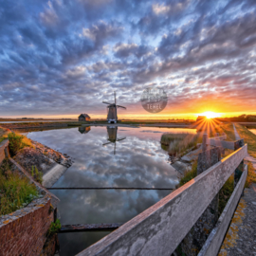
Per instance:
[[[0,117],[256,113],[255,0],[0,0]],[[146,112],[147,87],[166,108]]]

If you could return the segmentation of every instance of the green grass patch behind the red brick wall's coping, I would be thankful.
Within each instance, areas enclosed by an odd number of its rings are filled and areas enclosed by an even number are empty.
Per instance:
[[[11,171],[8,159],[0,166],[0,215],[24,208],[39,196],[34,184],[27,177]]]

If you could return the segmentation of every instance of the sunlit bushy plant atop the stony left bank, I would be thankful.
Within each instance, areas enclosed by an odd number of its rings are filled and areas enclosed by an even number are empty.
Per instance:
[[[17,152],[25,147],[32,147],[31,141],[22,135],[9,133],[9,151],[11,155],[16,155]]]

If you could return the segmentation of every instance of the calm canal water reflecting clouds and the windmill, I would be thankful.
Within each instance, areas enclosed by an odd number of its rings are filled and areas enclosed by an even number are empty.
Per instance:
[[[177,173],[161,148],[164,132],[180,128],[72,128],[32,132],[27,137],[75,158],[53,187],[170,188]],[[61,200],[62,224],[125,223],[172,192],[137,190],[52,191]],[[109,232],[59,234],[61,255],[75,255]]]

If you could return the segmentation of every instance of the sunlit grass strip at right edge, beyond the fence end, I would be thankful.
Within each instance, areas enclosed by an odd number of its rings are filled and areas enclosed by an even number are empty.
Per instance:
[[[251,133],[247,127],[235,123],[237,133],[241,138],[244,138],[245,143],[248,146],[248,154],[256,157],[256,135]]]

